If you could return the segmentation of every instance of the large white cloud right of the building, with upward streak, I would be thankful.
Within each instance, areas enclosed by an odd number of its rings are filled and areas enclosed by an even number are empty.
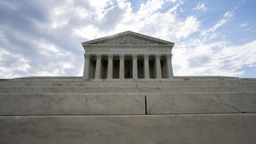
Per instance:
[[[255,40],[238,46],[225,39],[212,41],[223,33],[223,31],[217,32],[217,29],[232,19],[233,12],[225,12],[223,18],[213,27],[200,30],[198,37],[175,44],[173,49],[175,75],[239,76],[245,73],[242,68],[256,69]]]

